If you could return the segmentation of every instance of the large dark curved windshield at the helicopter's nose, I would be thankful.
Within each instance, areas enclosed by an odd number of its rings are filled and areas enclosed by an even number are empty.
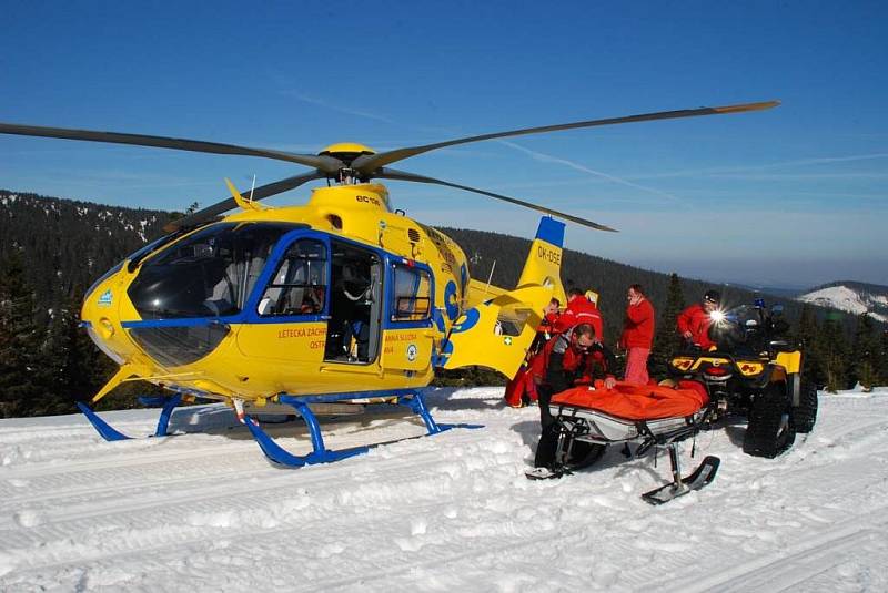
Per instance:
[[[142,319],[241,311],[281,236],[300,225],[211,225],[147,260],[128,294]]]

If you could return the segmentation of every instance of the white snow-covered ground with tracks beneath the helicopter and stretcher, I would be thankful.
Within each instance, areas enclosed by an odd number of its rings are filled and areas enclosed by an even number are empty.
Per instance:
[[[718,477],[662,507],[639,494],[665,457],[526,480],[537,409],[500,393],[430,395],[438,421],[484,429],[296,470],[220,407],[118,443],[78,416],[0,420],[0,591],[888,590],[888,389],[821,395],[774,460],[741,452],[743,425],[703,433],[685,472],[716,454]],[[155,413],[105,418],[148,433]],[[406,410],[325,428],[333,448],[424,432]],[[297,423],[270,432],[310,450]]]

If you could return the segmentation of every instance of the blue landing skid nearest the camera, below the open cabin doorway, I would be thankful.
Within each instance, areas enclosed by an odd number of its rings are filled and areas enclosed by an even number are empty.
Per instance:
[[[432,418],[432,415],[428,412],[428,408],[425,406],[425,399],[422,391],[417,391],[415,389],[397,389],[393,391],[353,391],[350,393],[335,393],[325,396],[278,396],[278,401],[295,408],[296,413],[299,413],[299,416],[305,420],[305,423],[309,427],[309,433],[311,434],[312,447],[314,448],[314,450],[307,456],[294,456],[293,453],[284,450],[280,444],[274,442],[274,440],[269,437],[264,430],[262,430],[262,428],[259,426],[259,422],[256,422],[250,416],[245,415],[243,422],[246,425],[246,428],[250,429],[250,432],[259,443],[262,452],[265,453],[265,457],[275,463],[291,468],[301,468],[303,466],[312,466],[314,463],[330,463],[332,461],[339,461],[349,457],[366,453],[373,446],[355,447],[353,449],[344,449],[342,451],[331,451],[324,446],[324,439],[321,436],[321,426],[317,423],[317,418],[314,416],[314,412],[312,412],[311,408],[309,408],[309,403],[324,403],[379,397],[396,397],[398,405],[407,406],[411,410],[413,410],[414,413],[417,413],[422,417],[428,434],[437,434],[438,432],[443,432],[452,428],[484,428],[482,425],[436,423]]]

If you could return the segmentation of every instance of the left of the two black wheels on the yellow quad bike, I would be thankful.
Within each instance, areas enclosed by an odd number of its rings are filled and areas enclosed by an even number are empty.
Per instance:
[[[796,440],[796,430],[790,421],[791,411],[786,385],[768,385],[753,400],[743,451],[753,457],[770,459],[789,449]]]

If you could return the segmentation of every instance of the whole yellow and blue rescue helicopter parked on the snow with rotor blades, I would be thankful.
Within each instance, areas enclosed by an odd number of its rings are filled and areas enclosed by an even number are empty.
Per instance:
[[[88,290],[81,318],[120,369],[92,398],[123,381],[170,391],[155,436],[165,436],[183,400],[223,401],[236,410],[266,456],[300,467],[367,448],[326,449],[312,406],[391,401],[435,423],[422,389],[436,368],[483,366],[512,376],[553,296],[564,300],[559,268],[564,218],[613,228],[537,204],[389,165],[437,149],[543,132],[770,109],[777,101],[699,108],[483,134],[376,153],[333,144],[295,154],[194,140],[0,123],[0,133],[260,156],[305,165],[309,173],[254,188],[180,218],[169,234],[108,270]],[[313,180],[304,205],[260,201]],[[443,233],[393,211],[373,180],[443,185],[546,214],[517,286],[470,278],[465,254]],[[240,207],[239,212],[220,217]],[[248,413],[289,406],[307,423],[313,452],[295,456]],[[127,439],[89,406],[81,410],[108,440]]]

